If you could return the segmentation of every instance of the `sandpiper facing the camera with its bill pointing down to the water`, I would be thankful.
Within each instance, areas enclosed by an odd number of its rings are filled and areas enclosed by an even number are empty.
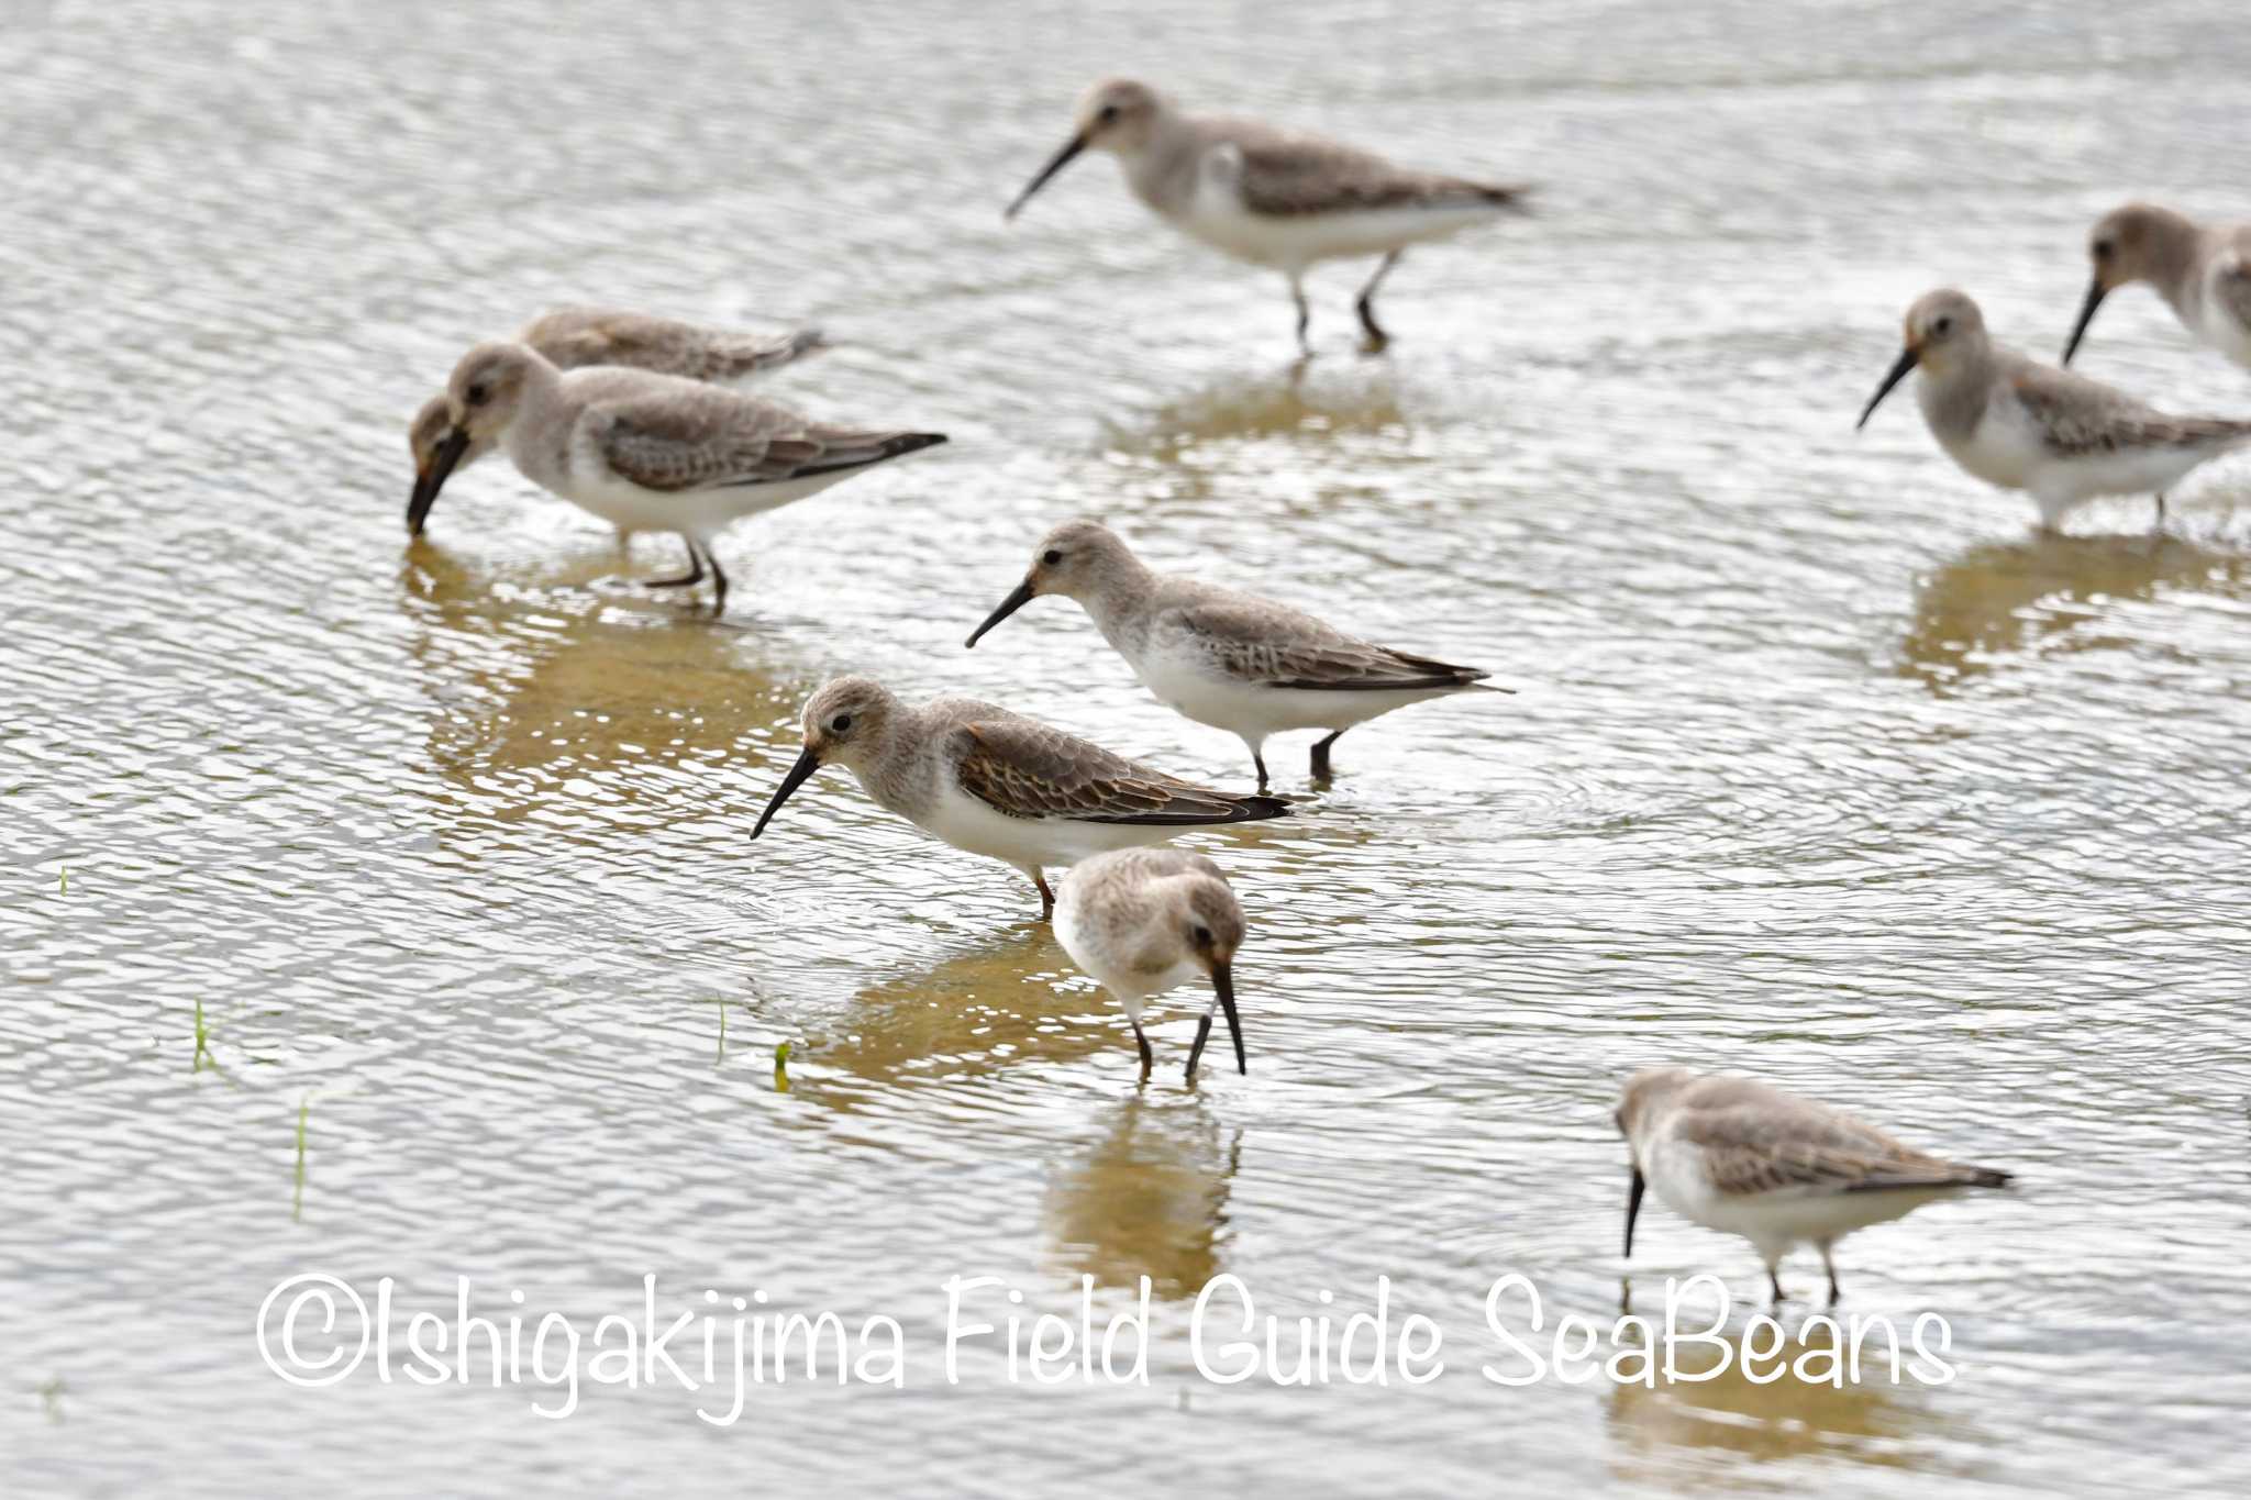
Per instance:
[[[1243,906],[1202,855],[1175,848],[1137,848],[1096,855],[1058,882],[1056,938],[1080,969],[1119,996],[1141,1048],[1141,1079],[1155,1057],[1141,1030],[1141,1007],[1198,978],[1211,981],[1211,1007],[1195,1028],[1186,1079],[1211,1037],[1211,1012],[1227,1012],[1227,1034],[1236,1043],[1236,1073],[1249,1073],[1243,1057],[1243,1019],[1236,1016],[1236,949],[1243,947]]]

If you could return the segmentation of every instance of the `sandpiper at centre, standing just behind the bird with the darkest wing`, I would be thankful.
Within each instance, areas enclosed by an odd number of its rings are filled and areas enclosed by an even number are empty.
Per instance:
[[[1238,735],[1258,767],[1261,792],[1267,735],[1326,729],[1312,747],[1312,776],[1328,780],[1328,749],[1353,724],[1479,688],[1488,677],[1474,666],[1369,645],[1256,594],[1150,571],[1101,522],[1049,531],[1024,582],[970,632],[968,645],[1040,594],[1076,598],[1162,704]]]

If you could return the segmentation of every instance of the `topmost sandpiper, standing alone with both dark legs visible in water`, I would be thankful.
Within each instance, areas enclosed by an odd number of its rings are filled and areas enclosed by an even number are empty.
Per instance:
[[[1306,353],[1312,351],[1306,268],[1382,256],[1357,301],[1366,349],[1382,349],[1389,335],[1375,322],[1375,288],[1400,254],[1522,211],[1526,193],[1524,187],[1409,171],[1256,119],[1184,115],[1146,83],[1107,79],[1080,99],[1071,139],[1015,196],[1004,218],[1015,218],[1083,151],[1119,157],[1135,198],[1189,238],[1288,277],[1297,344]]]

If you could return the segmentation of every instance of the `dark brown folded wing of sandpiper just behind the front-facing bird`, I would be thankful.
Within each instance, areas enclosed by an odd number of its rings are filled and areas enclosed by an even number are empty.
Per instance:
[[[1031,720],[963,724],[961,787],[1013,819],[1080,823],[1234,823],[1247,803],[1135,765]]]

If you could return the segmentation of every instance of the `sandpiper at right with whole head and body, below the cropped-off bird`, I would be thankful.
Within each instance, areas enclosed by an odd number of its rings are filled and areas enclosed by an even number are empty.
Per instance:
[[[2188,470],[2251,443],[2251,423],[2165,416],[2096,380],[2039,364],[1985,333],[1965,292],[1925,292],[1907,308],[1907,349],[1875,387],[1855,427],[1918,371],[1916,398],[1931,436],[1965,472],[2003,490],[2026,490],[2039,528],[2100,495],[2156,495]]]

